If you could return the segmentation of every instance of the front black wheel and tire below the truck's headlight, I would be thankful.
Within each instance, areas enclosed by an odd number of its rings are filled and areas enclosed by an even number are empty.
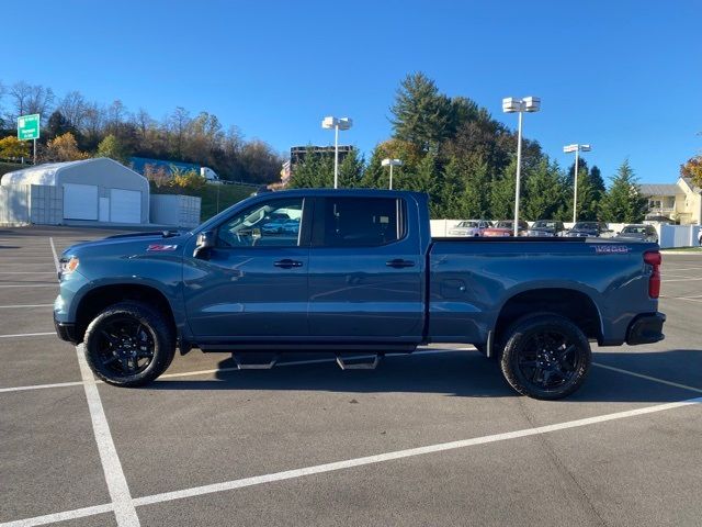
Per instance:
[[[140,302],[121,302],[95,316],[86,330],[86,359],[101,380],[140,386],[159,377],[176,354],[166,318]]]

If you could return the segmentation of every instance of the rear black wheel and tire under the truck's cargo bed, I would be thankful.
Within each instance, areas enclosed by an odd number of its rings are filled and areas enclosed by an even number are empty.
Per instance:
[[[519,393],[553,401],[578,390],[591,362],[590,343],[578,326],[563,316],[540,314],[507,330],[500,365]]]

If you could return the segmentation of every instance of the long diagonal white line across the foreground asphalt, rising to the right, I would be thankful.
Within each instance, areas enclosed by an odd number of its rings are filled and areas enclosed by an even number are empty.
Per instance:
[[[194,486],[191,489],[183,489],[180,491],[152,494],[149,496],[133,498],[131,501],[131,504],[134,507],[140,507],[144,505],[152,505],[156,503],[172,502],[174,500],[202,496],[205,494],[214,494],[218,492],[233,491],[236,489],[261,485],[264,483],[272,483],[276,481],[304,478],[307,475],[321,474],[325,472],[333,472],[338,470],[352,469],[355,467],[363,467],[367,464],[377,464],[377,463],[384,463],[387,461],[395,461],[398,459],[411,458],[417,456],[426,456],[429,453],[444,452],[449,450],[456,450],[456,449],[474,447],[478,445],[487,445],[491,442],[506,441],[511,439],[518,439],[520,437],[530,437],[530,436],[536,436],[542,434],[551,434],[559,430],[567,430],[571,428],[597,425],[600,423],[607,423],[611,421],[626,419],[631,417],[637,417],[641,415],[648,415],[648,414],[654,414],[659,412],[666,412],[669,410],[682,408],[686,406],[698,405],[700,403],[702,403],[702,397],[688,399],[688,400],[678,401],[675,403],[657,404],[654,406],[645,406],[643,408],[629,410],[625,412],[615,412],[612,414],[604,414],[596,417],[586,417],[584,419],[568,421],[566,423],[557,423],[553,425],[539,426],[535,428],[524,428],[521,430],[508,431],[503,434],[494,434],[490,436],[475,437],[472,439],[441,442],[438,445],[429,445],[426,447],[410,448],[406,450],[395,450],[390,452],[378,453],[375,456],[367,456],[363,458],[347,459],[343,461],[337,461],[332,463],[317,464],[313,467],[304,467],[302,469],[294,469],[294,470],[286,470],[283,472],[274,472],[271,474],[256,475],[253,478],[244,478],[239,480],[225,481],[225,482],[215,483],[212,485]],[[58,518],[59,515],[60,515],[60,519],[64,519],[64,520],[84,517],[84,516],[92,516],[92,515],[100,514],[102,512],[107,511],[109,508],[105,508],[105,507],[111,507],[111,506],[99,505],[97,507],[79,508],[76,511],[66,511],[63,513],[57,513],[55,515],[37,516],[35,518],[26,518],[19,522],[0,524],[0,527],[20,527],[20,526],[31,527],[35,525],[45,525],[50,522],[56,522],[57,519],[54,519],[54,518]],[[99,509],[99,512],[87,513],[89,508]]]

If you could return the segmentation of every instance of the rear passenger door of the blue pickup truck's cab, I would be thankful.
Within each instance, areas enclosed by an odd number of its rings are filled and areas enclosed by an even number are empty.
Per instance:
[[[424,258],[416,229],[409,232],[403,198],[319,198],[309,253],[310,335],[419,341]]]

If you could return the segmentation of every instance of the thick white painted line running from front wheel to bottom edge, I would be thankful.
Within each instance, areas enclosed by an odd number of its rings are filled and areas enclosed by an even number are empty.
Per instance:
[[[86,390],[90,421],[92,422],[92,429],[95,435],[95,442],[98,444],[98,452],[100,453],[100,461],[102,462],[102,470],[105,474],[107,491],[110,492],[110,498],[114,507],[114,515],[117,518],[117,525],[120,527],[138,527],[140,525],[139,518],[136,515],[129,486],[124,476],[120,456],[117,456],[117,450],[114,446],[112,434],[110,433],[110,425],[105,417],[105,411],[102,406],[95,378],[92,371],[90,371],[88,361],[79,347],[76,347],[76,355],[78,357],[78,365],[80,366],[80,377],[83,380],[83,389]]]

